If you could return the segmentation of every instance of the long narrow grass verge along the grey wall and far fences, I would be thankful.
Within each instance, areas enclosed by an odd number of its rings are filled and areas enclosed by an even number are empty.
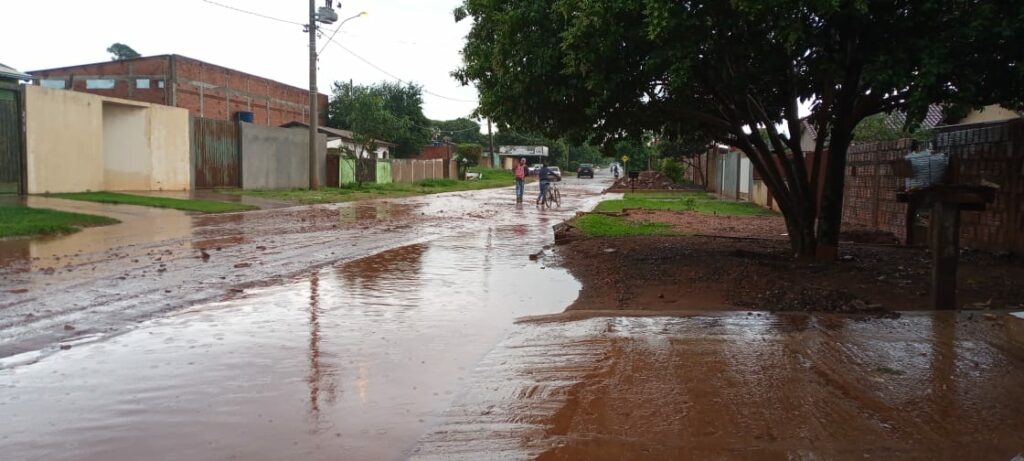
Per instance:
[[[270,191],[222,191],[225,194],[241,194],[264,199],[286,200],[301,204],[355,202],[358,200],[398,198],[440,194],[458,191],[476,191],[480,188],[504,187],[514,184],[512,172],[501,169],[474,170],[482,173],[482,179],[460,181],[455,179],[423,179],[417,182],[394,182],[378,184],[367,182],[361,186],[345,184],[341,187],[322,187],[319,191],[305,188],[270,190]]]

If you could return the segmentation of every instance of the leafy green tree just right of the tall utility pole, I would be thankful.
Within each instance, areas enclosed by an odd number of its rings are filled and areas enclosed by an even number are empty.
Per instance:
[[[356,103],[365,94],[373,94],[379,100],[379,109],[401,121],[401,126],[404,127],[392,132],[380,132],[381,140],[397,144],[392,150],[394,157],[413,157],[430,141],[430,121],[423,115],[422,88],[417,85],[392,82],[353,85],[349,82],[335,82],[333,93],[327,110],[327,124],[330,127],[356,131],[353,120],[360,117]]]

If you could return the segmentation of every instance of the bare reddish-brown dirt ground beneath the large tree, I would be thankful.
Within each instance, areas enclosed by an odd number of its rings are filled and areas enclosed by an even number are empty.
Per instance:
[[[680,218],[682,219],[682,218]],[[706,219],[691,230],[723,234],[751,218]],[[761,218],[754,218],[761,219]],[[730,223],[731,222],[731,223]],[[929,308],[925,249],[844,245],[844,260],[804,263],[770,224],[772,239],[703,236],[580,238],[561,245],[561,263],[581,281],[575,309],[824,310]],[[771,230],[770,233],[768,230]],[[738,236],[734,236],[738,237]],[[1024,264],[982,252],[961,258],[959,304],[1005,308],[1024,302]]]

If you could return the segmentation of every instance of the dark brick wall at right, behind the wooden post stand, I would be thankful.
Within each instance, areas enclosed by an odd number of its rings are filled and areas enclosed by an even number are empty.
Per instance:
[[[995,202],[986,211],[962,215],[963,244],[1024,251],[1024,121],[940,128],[933,148],[950,155],[954,183],[997,187]],[[906,241],[906,205],[896,202],[901,180],[890,162],[909,151],[909,139],[850,148],[844,223],[890,232]]]

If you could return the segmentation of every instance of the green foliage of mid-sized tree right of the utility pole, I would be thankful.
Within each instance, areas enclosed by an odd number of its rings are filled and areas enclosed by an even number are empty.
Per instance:
[[[430,140],[422,91],[414,84],[335,82],[327,110],[328,126],[351,130],[365,139],[394,142],[393,157],[413,157]]]

